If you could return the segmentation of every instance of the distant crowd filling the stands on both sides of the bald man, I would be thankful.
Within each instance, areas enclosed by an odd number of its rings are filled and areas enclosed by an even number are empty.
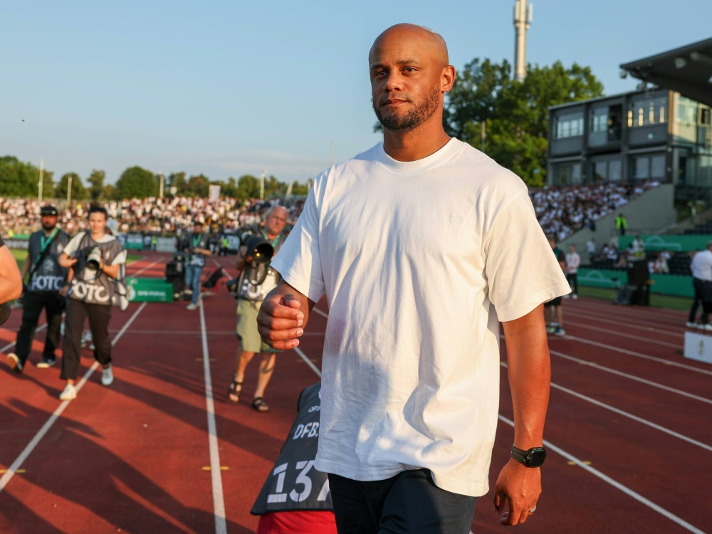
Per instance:
[[[576,231],[595,224],[602,216],[616,211],[659,182],[640,184],[600,183],[569,187],[545,187],[529,190],[539,224],[546,234],[567,239]],[[110,218],[122,232],[145,234],[180,234],[192,227],[197,218],[213,231],[237,231],[263,220],[276,201],[251,199],[240,201],[228,197],[210,200],[193,197],[125,199],[105,204]],[[288,211],[293,223],[303,207],[303,200],[277,201]],[[0,199],[0,229],[5,235],[29,234],[39,223],[41,203],[34,199]],[[61,208],[60,225],[68,234],[85,230],[87,201],[72,201]]]

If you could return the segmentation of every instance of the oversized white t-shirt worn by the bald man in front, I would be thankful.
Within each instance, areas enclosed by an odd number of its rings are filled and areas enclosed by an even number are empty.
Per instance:
[[[486,493],[498,320],[570,292],[525,184],[455,139],[416,162],[379,143],[315,179],[272,266],[328,298],[315,467]]]

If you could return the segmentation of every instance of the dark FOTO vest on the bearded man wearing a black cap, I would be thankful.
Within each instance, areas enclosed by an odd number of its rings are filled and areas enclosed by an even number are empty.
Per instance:
[[[59,256],[68,244],[69,236],[60,229],[56,231],[54,239],[52,239],[53,234],[46,236],[42,230],[30,236],[28,255],[31,269],[35,269],[35,272],[28,282],[28,290],[33,293],[57,293],[67,278],[67,269],[59,264]],[[35,268],[39,256],[46,247],[49,248],[48,253],[42,263]]]

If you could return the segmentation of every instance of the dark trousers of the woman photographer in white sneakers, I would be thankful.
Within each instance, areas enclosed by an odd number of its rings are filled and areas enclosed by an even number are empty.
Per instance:
[[[102,367],[111,363],[111,340],[109,339],[111,306],[88,304],[81,300],[68,298],[67,316],[64,321],[62,374],[60,375],[63,380],[77,379],[85,318],[89,318],[89,328],[96,347],[94,357]]]

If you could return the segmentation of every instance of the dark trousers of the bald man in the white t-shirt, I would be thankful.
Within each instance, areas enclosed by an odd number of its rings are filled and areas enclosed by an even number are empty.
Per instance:
[[[360,482],[329,473],[339,534],[468,534],[476,497],[438,488],[428,469]]]

